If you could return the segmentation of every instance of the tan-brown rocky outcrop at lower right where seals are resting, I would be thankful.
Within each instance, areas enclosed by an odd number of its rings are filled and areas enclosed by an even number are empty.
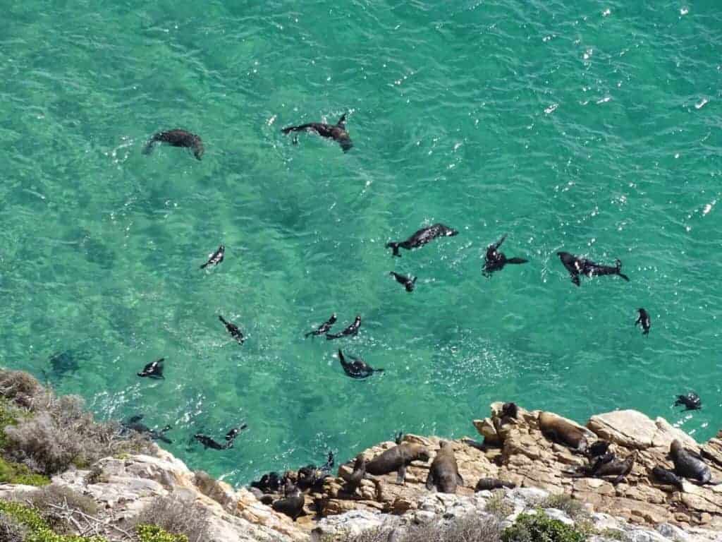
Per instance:
[[[662,418],[651,420],[635,410],[620,410],[593,416],[586,427],[561,418],[588,435],[589,442],[605,439],[612,443],[617,457],[637,452],[632,472],[621,483],[601,478],[571,478],[567,470],[586,465],[582,455],[569,447],[552,442],[539,430],[539,411],[518,409],[516,418],[502,415],[502,404],[492,405],[492,416],[473,421],[484,437],[484,446],[469,439],[454,441],[459,472],[465,484],[457,495],[472,496],[479,478],[500,478],[521,488],[539,488],[552,494],[568,494],[589,503],[596,512],[623,517],[638,525],[674,523],[684,528],[699,526],[722,530],[722,485],[696,486],[684,482],[683,491],[656,483],[651,470],[656,465],[672,468],[666,457],[672,440],[680,439],[686,447],[701,452],[713,470],[713,480],[722,481],[722,432],[700,447],[683,431]],[[431,460],[439,449],[439,439],[406,435],[406,442],[423,444]],[[363,452],[370,459],[393,447],[384,442]],[[344,493],[344,479],[352,472],[352,463],[339,468],[337,478],[329,478],[323,492],[309,496],[309,503],[323,504],[325,515],[339,515],[350,510],[385,512],[403,515],[419,509],[428,495],[424,486],[427,463],[414,462],[406,471],[404,486],[396,484],[396,473],[363,481],[354,494]]]

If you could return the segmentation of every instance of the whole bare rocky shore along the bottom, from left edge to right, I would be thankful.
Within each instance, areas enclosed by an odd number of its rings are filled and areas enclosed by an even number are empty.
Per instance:
[[[257,491],[232,489],[204,473],[194,473],[157,447],[146,454],[106,457],[87,469],[66,470],[52,481],[89,496],[103,520],[119,529],[158,496],[194,502],[207,512],[209,541],[333,541],[372,528],[386,529],[398,538],[414,525],[449,522],[471,513],[494,517],[504,527],[512,525],[522,512],[545,514],[569,525],[583,524],[588,540],[721,539],[722,485],[697,486],[687,481],[681,487],[664,485],[653,479],[651,470],[656,465],[671,468],[669,446],[679,439],[705,458],[713,480],[722,481],[722,431],[709,442],[697,444],[664,419],[652,420],[634,410],[592,416],[586,427],[578,429],[612,443],[619,457],[636,452],[632,471],[614,485],[601,478],[566,476],[565,471],[586,465],[587,460],[541,433],[538,410],[519,408],[516,418],[509,418],[502,416],[502,403],[494,403],[490,417],[473,424],[483,436],[483,444],[470,439],[451,441],[464,478],[456,494],[435,493],[425,487],[440,439],[406,435],[404,442],[426,447],[431,460],[414,461],[403,485],[396,483],[396,473],[390,473],[363,480],[357,491],[349,494],[344,483],[353,465],[346,463],[339,467],[338,476],[329,476],[317,491],[305,495],[305,515],[295,522],[262,504]],[[383,442],[363,455],[371,459],[395,445]],[[499,478],[515,484],[516,489],[475,492],[480,478]],[[40,491],[1,484],[0,499],[9,499],[19,489]],[[561,509],[577,501],[579,514]],[[556,502],[565,506],[557,508]]]

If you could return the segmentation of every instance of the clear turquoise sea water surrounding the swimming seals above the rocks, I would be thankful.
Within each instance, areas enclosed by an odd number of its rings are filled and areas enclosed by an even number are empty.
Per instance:
[[[0,364],[171,424],[232,483],[472,435],[493,400],[720,429],[717,2],[2,4]],[[280,133],[344,111],[347,154]],[[142,154],[175,127],[202,161]],[[384,249],[435,222],[461,233]],[[503,233],[531,262],[487,280]],[[559,250],[631,281],[576,288]],[[334,311],[357,337],[303,338]],[[386,372],[347,378],[339,346]],[[164,381],[135,376],[159,357]],[[703,410],[672,406],[689,390]],[[238,421],[233,449],[188,442]]]

